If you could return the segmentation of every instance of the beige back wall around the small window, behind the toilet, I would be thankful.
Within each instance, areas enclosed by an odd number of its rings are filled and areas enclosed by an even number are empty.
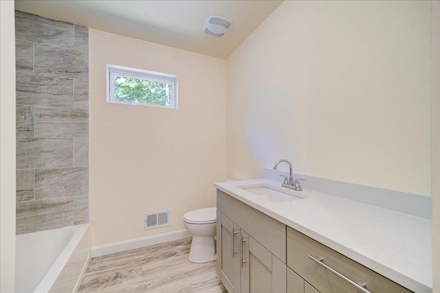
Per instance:
[[[184,229],[225,177],[225,60],[89,31],[92,246]],[[106,64],[179,76],[179,109],[106,102]],[[144,231],[146,212],[171,226]]]

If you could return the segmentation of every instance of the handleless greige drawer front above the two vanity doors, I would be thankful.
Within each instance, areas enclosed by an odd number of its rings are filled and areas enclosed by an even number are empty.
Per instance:
[[[217,190],[217,209],[286,263],[285,224],[219,190]]]

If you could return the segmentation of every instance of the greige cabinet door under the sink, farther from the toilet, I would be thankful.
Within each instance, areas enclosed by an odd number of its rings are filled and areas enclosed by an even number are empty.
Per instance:
[[[241,292],[286,292],[286,265],[241,230]]]

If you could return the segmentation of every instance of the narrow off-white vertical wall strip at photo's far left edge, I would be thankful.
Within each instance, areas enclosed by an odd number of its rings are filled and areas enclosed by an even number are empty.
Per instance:
[[[14,1],[0,1],[0,292],[15,279],[15,26]]]

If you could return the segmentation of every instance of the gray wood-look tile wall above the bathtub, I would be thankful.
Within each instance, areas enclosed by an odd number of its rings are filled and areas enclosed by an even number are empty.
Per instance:
[[[17,234],[89,222],[89,30],[15,12]]]

